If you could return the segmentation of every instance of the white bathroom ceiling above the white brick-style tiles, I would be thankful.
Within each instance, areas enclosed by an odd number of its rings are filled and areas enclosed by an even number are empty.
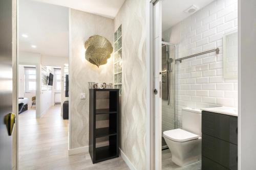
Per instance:
[[[192,5],[199,7],[199,10],[214,0],[163,0],[162,4],[162,30],[165,31],[186,17],[192,15],[184,10]]]

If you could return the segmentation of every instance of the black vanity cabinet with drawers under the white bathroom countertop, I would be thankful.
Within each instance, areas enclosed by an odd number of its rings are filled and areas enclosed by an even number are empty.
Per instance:
[[[238,117],[202,111],[202,170],[238,169]]]

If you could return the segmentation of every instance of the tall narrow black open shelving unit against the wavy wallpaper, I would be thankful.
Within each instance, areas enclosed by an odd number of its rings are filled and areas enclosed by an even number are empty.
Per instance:
[[[97,108],[100,107],[98,92],[108,93],[108,108]],[[93,163],[119,157],[119,89],[90,89],[89,112],[89,153]],[[97,116],[101,115],[108,115],[109,127],[96,128]],[[108,139],[109,145],[97,147],[96,139],[103,137]]]

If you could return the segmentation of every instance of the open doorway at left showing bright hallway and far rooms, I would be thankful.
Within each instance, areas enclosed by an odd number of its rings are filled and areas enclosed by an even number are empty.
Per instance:
[[[18,169],[52,169],[53,159],[68,158],[69,120],[62,116],[68,98],[62,96],[69,9],[19,0],[18,16],[18,93],[24,104],[18,115]]]

